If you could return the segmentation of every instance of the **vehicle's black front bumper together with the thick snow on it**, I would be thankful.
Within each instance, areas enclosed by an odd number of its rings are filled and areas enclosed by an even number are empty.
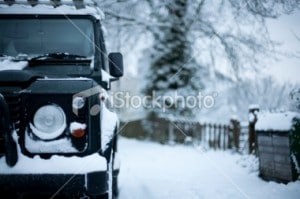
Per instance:
[[[57,193],[63,198],[79,198],[80,194],[102,195],[108,191],[107,171],[107,161],[98,153],[85,157],[54,155],[47,160],[19,153],[19,160],[13,167],[9,167],[2,157],[0,197],[3,198],[2,193],[42,193],[47,194],[47,198]]]

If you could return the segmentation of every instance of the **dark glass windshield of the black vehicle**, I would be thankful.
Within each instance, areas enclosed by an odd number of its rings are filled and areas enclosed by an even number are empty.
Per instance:
[[[0,19],[0,54],[28,56],[94,55],[94,27],[88,19]]]

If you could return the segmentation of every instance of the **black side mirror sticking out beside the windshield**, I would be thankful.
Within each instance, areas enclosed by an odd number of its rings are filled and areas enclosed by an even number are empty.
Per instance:
[[[123,76],[123,56],[121,53],[109,53],[108,63],[111,76],[116,78]]]

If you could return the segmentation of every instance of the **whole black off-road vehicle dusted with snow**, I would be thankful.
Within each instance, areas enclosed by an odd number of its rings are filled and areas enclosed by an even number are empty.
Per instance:
[[[118,119],[94,1],[0,1],[0,198],[115,198]],[[108,72],[109,71],[109,72]]]

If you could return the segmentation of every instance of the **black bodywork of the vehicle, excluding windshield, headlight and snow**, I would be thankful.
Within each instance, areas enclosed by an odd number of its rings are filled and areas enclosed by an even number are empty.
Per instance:
[[[29,122],[32,122],[35,111],[43,105],[57,104],[66,113],[67,126],[70,122],[77,121],[87,124],[87,134],[81,140],[72,138],[72,144],[79,149],[78,153],[55,154],[64,156],[85,156],[99,152],[109,160],[109,153],[115,144],[111,142],[110,147],[102,152],[101,149],[101,128],[100,113],[90,114],[90,108],[95,104],[100,104],[98,95],[88,96],[86,105],[78,115],[72,110],[72,98],[75,94],[102,86],[107,88],[107,84],[101,81],[101,69],[107,69],[105,61],[106,49],[104,46],[103,35],[101,32],[100,21],[89,15],[0,15],[0,18],[87,18],[93,21],[95,30],[95,42],[98,46],[92,63],[93,67],[87,66],[88,62],[68,62],[63,63],[57,60],[49,63],[35,63],[28,66],[23,71],[0,71],[0,93],[4,96],[11,115],[13,126],[18,134],[18,143],[21,151],[28,157],[33,157],[24,144],[24,134],[30,130]],[[86,77],[86,78],[78,78]],[[73,78],[68,79],[66,78]],[[77,78],[77,79],[76,79]],[[69,131],[68,127],[65,131]],[[3,135],[0,132],[0,138]],[[68,132],[62,136],[71,136]],[[38,139],[38,138],[37,138]],[[116,139],[114,139],[116,140]],[[0,140],[1,141],[1,140]],[[83,147],[87,143],[87,147]],[[1,144],[1,142],[0,142]],[[7,148],[5,149],[7,150]],[[0,151],[1,152],[1,151]],[[1,154],[0,154],[1,155]],[[53,153],[41,154],[41,157],[49,158]],[[66,182],[66,186],[60,190],[60,194],[74,194],[70,197],[78,198],[80,193],[87,192],[89,195],[101,195],[107,192],[108,186],[107,172],[94,172],[85,175],[72,174],[0,174],[0,193],[1,198],[15,191],[18,192],[42,192],[50,194],[58,191]],[[70,181],[69,181],[70,180]],[[87,183],[87,189],[85,189]],[[12,195],[9,198],[13,198]]]

